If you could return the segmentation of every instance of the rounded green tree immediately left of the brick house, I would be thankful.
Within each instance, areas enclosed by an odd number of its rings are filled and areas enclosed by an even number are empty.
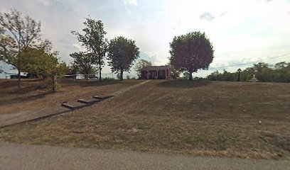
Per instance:
[[[110,40],[108,60],[112,72],[119,73],[120,80],[123,80],[123,72],[129,71],[139,54],[139,47],[135,45],[134,40],[122,36]]]

